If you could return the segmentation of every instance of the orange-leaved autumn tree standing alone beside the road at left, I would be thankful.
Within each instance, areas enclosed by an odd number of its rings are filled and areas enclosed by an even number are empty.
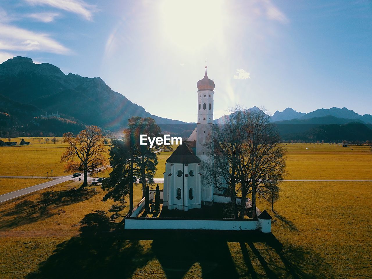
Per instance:
[[[76,138],[71,132],[63,135],[68,144],[61,156],[61,162],[66,162],[64,172],[82,171],[84,180],[81,187],[88,184],[88,173],[96,174],[106,169],[108,161],[106,150],[102,143],[102,131],[97,126],[89,126],[81,131]]]

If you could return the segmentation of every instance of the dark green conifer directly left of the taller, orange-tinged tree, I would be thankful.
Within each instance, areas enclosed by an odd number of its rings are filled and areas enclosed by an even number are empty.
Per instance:
[[[125,197],[129,194],[130,186],[133,189],[133,179],[131,178],[131,161],[128,142],[122,140],[112,140],[109,149],[110,166],[112,171],[109,177],[103,180],[102,189],[107,191],[103,196],[103,201],[113,199],[115,202],[125,203]],[[132,208],[133,210],[133,198]]]

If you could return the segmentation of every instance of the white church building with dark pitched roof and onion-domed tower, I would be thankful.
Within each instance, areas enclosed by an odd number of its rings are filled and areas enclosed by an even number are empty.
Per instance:
[[[215,187],[203,179],[202,164],[213,160],[204,146],[213,125],[214,82],[205,75],[198,81],[198,121],[187,141],[178,145],[166,161],[163,207],[188,211],[212,205]]]

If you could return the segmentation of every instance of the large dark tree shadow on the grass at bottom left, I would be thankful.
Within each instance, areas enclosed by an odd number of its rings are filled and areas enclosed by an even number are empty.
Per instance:
[[[80,224],[80,234],[58,244],[26,278],[131,278],[154,257],[138,241],[126,240],[122,225],[104,211],[87,214]]]

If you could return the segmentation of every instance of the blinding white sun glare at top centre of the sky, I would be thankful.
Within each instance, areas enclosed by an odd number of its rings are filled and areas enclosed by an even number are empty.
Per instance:
[[[216,41],[226,23],[222,6],[220,0],[164,0],[160,5],[164,36],[189,51]]]

